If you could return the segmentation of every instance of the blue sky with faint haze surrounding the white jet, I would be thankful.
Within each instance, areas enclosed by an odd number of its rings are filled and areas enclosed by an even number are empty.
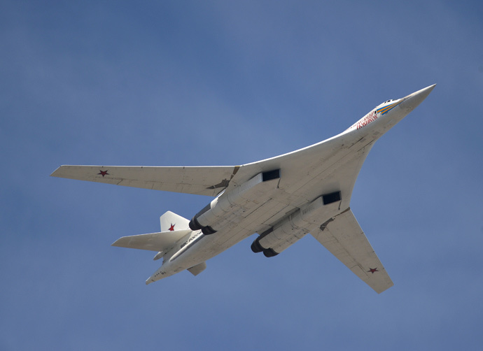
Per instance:
[[[479,1],[2,1],[1,350],[479,350]],[[437,83],[381,138],[351,208],[395,285],[307,237],[254,237],[146,287],[113,248],[210,199],[49,177],[60,164],[235,165]]]

